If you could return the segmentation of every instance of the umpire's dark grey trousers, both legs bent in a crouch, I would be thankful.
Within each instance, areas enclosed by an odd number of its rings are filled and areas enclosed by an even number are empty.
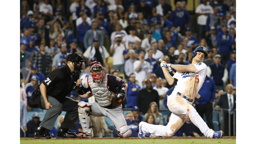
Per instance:
[[[64,121],[61,123],[62,128],[76,129],[78,122],[78,101],[75,101],[69,97],[65,97],[62,102],[59,102],[57,99],[52,96],[47,95],[48,102],[52,105],[50,107],[43,121],[39,124],[40,126],[52,130],[58,116],[62,111],[66,112]],[[44,99],[41,95],[40,97],[41,108],[45,109]]]

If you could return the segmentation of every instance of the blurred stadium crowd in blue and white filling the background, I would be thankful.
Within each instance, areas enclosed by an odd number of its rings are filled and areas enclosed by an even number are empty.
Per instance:
[[[198,1],[195,10],[186,9],[189,1]],[[31,121],[26,118],[34,88],[74,52],[85,58],[81,78],[98,61],[127,81],[123,107],[131,110],[126,118],[132,136],[142,120],[166,125],[170,115],[163,121],[161,111],[169,111],[167,96],[174,87],[158,59],[189,65],[198,46],[208,51],[208,72],[194,106],[214,129],[213,107],[231,109],[232,117],[236,108],[236,0],[20,0],[20,137],[34,137],[40,123],[36,112]],[[74,91],[68,97],[88,102]],[[203,135],[188,118],[174,136]]]

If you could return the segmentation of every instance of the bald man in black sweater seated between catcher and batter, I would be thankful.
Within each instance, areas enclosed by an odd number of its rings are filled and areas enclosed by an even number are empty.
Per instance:
[[[146,88],[141,89],[137,96],[137,106],[139,107],[140,114],[147,113],[148,109],[149,111],[151,110],[150,109],[152,105],[151,102],[156,102],[154,111],[152,111],[152,113],[157,113],[158,107],[159,107],[159,95],[157,91],[153,89],[151,79],[148,79],[146,81]],[[160,119],[159,119],[159,123],[160,123]]]

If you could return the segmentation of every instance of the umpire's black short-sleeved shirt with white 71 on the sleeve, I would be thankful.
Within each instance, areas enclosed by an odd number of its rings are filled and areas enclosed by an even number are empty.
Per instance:
[[[75,77],[67,65],[53,70],[40,84],[46,87],[46,95],[62,101],[76,86],[77,77]],[[40,86],[40,85],[39,85]],[[38,86],[38,87],[39,87]]]

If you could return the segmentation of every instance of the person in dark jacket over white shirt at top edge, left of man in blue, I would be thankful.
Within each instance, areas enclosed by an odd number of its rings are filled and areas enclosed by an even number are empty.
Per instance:
[[[159,4],[156,6],[156,13],[161,15],[163,19],[168,19],[172,12],[172,6],[165,3],[165,0],[160,0]]]

